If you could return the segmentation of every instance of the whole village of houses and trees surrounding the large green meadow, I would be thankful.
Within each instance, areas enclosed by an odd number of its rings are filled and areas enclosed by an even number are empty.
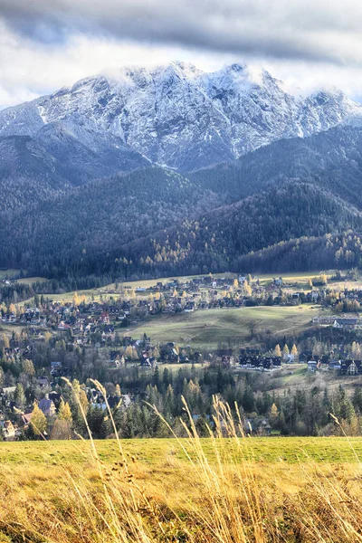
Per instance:
[[[359,344],[320,353],[295,345],[275,346],[271,351],[252,346],[237,349],[219,346],[208,352],[180,345],[176,338],[157,343],[145,333],[132,337],[132,326],[160,314],[193,313],[202,310],[252,307],[253,305],[301,305],[315,303],[333,310],[333,314],[313,317],[315,329],[353,332],[362,329],[362,319],[341,316],[338,308],[350,304],[357,310],[362,291],[345,290],[338,296],[327,285],[310,291],[295,291],[282,278],[262,285],[251,277],[213,278],[205,276],[189,281],[157,281],[149,287],[103,288],[85,297],[73,294],[71,300],[52,300],[37,296],[29,302],[0,306],[3,334],[0,339],[0,428],[5,440],[24,439],[34,406],[49,420],[56,420],[62,397],[62,378],[96,376],[102,370],[110,394],[100,394],[94,386],[83,385],[89,405],[106,409],[119,405],[127,410],[137,390],[120,383],[122,368],[222,367],[237,372],[281,372],[283,367],[299,364],[310,374],[332,372],[336,376],[361,376],[362,355]],[[342,308],[343,309],[343,308]],[[91,362],[89,359],[91,358]],[[85,372],[85,367],[88,367]],[[119,385],[124,394],[120,394]],[[113,385],[112,385],[113,384]],[[117,389],[116,389],[117,388]],[[19,399],[20,398],[20,399]]]

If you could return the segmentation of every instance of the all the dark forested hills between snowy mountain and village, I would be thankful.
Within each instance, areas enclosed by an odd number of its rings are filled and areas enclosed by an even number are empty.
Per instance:
[[[59,160],[47,154],[45,136],[43,147],[28,137],[0,140],[8,153],[0,167],[1,266],[60,279],[322,269],[360,261],[359,249],[353,258],[336,258],[338,242],[330,241],[362,231],[359,127],[277,141],[187,175],[146,167],[88,183],[87,172],[110,171],[99,155],[74,147],[65,157],[71,136],[64,127],[43,130],[57,140],[52,148]],[[20,155],[26,160],[16,167]]]

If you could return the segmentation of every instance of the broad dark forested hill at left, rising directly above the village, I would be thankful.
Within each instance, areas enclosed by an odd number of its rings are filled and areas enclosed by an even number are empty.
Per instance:
[[[109,252],[119,256],[125,244],[215,205],[210,191],[167,169],[111,176],[12,214],[0,230],[0,265],[16,263],[46,277],[105,273],[112,267]]]

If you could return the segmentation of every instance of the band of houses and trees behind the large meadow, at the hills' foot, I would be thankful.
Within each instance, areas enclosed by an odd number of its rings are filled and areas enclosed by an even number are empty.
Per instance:
[[[8,280],[3,280],[9,283]],[[12,281],[16,283],[15,280]],[[114,331],[114,325],[128,327],[142,319],[159,314],[192,313],[196,310],[243,308],[255,306],[295,306],[317,304],[334,310],[337,315],[319,316],[313,323],[340,329],[360,329],[362,319],[356,316],[342,318],[339,313],[359,310],[362,288],[339,288],[328,284],[327,276],[309,279],[307,288],[282,277],[271,281],[228,273],[224,277],[198,276],[189,280],[173,279],[157,281],[148,287],[123,286],[115,283],[110,287],[78,296],[74,292],[69,300],[60,295],[36,295],[33,300],[0,303],[0,319],[4,324],[33,325],[40,328],[71,330],[77,336],[86,337],[94,327],[107,325],[104,333]],[[94,296],[96,293],[96,298]],[[54,300],[56,299],[56,300]],[[1,287],[0,287],[1,302]]]

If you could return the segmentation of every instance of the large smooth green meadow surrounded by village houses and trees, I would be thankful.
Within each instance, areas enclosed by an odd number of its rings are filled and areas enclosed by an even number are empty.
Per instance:
[[[140,338],[146,332],[156,342],[176,341],[195,348],[216,348],[219,343],[251,341],[260,331],[292,335],[307,329],[319,314],[312,305],[199,310],[180,315],[164,315],[130,328]]]

